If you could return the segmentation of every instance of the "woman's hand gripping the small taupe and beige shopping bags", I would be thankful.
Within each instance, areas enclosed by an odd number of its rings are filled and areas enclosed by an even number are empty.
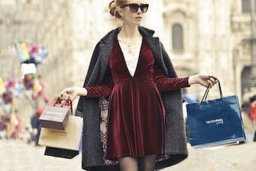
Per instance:
[[[67,89],[63,89],[60,98],[62,100],[68,100],[70,98],[71,101],[78,96],[86,96],[87,89],[82,87],[70,87]]]

